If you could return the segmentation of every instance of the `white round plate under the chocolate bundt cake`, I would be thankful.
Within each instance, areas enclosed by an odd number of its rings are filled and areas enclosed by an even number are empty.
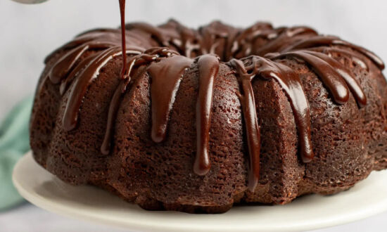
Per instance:
[[[387,210],[387,172],[373,172],[349,191],[307,195],[288,205],[237,206],[224,214],[150,212],[92,186],[70,186],[37,165],[31,153],[13,170],[25,199],[45,210],[139,231],[305,231]]]

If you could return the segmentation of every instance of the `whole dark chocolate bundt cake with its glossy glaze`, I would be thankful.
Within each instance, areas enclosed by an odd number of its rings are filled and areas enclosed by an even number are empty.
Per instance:
[[[337,193],[387,167],[374,53],[264,22],[125,34],[125,65],[120,29],[84,32],[45,60],[31,147],[63,181],[148,210],[217,213]]]

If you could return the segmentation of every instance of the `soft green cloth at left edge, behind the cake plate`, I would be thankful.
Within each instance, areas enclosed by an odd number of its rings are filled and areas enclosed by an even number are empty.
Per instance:
[[[0,126],[0,211],[23,202],[12,183],[12,170],[18,159],[30,150],[28,124],[32,98],[11,110]]]

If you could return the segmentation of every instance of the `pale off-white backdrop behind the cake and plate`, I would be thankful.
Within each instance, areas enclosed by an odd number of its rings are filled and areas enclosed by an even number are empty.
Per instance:
[[[365,46],[387,60],[387,1],[383,0],[128,1],[127,21],[158,24],[175,18],[190,27],[215,19],[237,26],[258,20],[276,26],[308,25]],[[35,6],[0,0],[0,120],[20,99],[34,93],[44,57],[50,51],[84,30],[118,27],[119,19],[117,0],[51,0]],[[386,219],[387,213],[322,231],[386,231]],[[0,231],[112,231],[31,205],[0,212],[0,225]]]

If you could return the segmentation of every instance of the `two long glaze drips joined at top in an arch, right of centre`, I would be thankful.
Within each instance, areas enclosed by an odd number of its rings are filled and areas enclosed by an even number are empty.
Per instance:
[[[245,65],[243,62],[250,63]],[[243,60],[230,60],[228,63],[236,70],[241,84],[241,105],[246,127],[246,138],[250,154],[250,172],[248,189],[253,191],[260,174],[260,129],[251,82],[255,77],[274,79],[284,89],[296,121],[299,150],[303,162],[314,157],[310,135],[310,110],[300,77],[290,67],[259,56],[250,56]]]

